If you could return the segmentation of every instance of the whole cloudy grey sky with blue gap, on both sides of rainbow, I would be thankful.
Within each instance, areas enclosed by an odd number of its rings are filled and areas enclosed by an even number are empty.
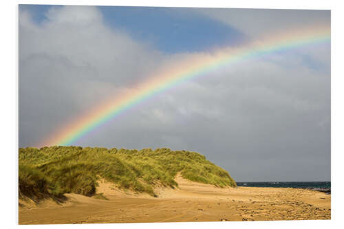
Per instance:
[[[19,147],[135,90],[158,69],[329,10],[19,6]],[[196,151],[237,182],[330,180],[330,43],[224,65],[162,91],[74,144]]]

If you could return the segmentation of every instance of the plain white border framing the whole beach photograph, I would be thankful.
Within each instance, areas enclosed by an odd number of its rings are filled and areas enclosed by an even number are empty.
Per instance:
[[[88,5],[88,6],[166,6],[166,7],[206,7],[206,8],[270,8],[270,9],[312,9],[332,10],[331,12],[331,181],[332,181],[332,220],[327,221],[255,221],[255,222],[211,222],[211,223],[116,223],[116,224],[85,224],[85,225],[55,225],[55,228],[186,228],[197,226],[200,228],[239,226],[248,228],[325,228],[339,227],[343,218],[343,4],[335,0],[237,0],[237,1],[196,1],[196,0],[22,0],[2,1],[1,6],[1,225],[18,226],[18,4],[52,4],[52,5]],[[5,145],[5,147],[3,147]],[[24,227],[24,226],[21,226]],[[26,227],[26,226],[25,226]],[[27,226],[45,227],[45,226]]]

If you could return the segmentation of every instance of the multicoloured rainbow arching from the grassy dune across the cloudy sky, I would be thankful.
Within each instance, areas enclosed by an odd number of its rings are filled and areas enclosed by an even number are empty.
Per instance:
[[[103,105],[87,111],[85,115],[76,118],[70,124],[53,133],[40,146],[71,145],[87,133],[138,105],[143,100],[219,67],[248,58],[257,58],[258,56],[317,43],[330,43],[330,28],[328,26],[316,25],[312,28],[301,28],[300,30],[263,37],[241,45],[241,47],[222,48],[211,53],[191,54],[189,57],[171,63],[149,76],[149,80],[139,83],[135,89],[122,93],[120,96],[114,96],[114,98],[104,102]]]

